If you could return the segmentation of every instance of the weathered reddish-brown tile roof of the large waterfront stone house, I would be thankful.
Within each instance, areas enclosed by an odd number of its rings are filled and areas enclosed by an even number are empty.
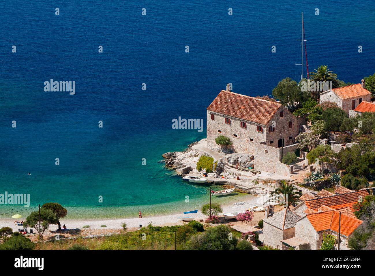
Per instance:
[[[221,90],[207,110],[258,124],[267,124],[281,104]]]

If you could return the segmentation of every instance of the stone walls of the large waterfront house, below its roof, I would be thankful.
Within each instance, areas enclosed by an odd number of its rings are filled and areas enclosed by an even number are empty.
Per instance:
[[[280,117],[281,111],[282,117]],[[213,120],[211,120],[211,114],[213,114]],[[225,123],[225,118],[230,119],[229,124]],[[241,122],[246,123],[245,128],[241,127]],[[257,130],[257,126],[258,130],[262,127],[261,131]],[[274,126],[275,130],[270,132],[271,126]],[[237,152],[254,154],[254,144],[260,142],[277,148],[280,145],[279,139],[283,137],[283,128],[284,145],[293,144],[294,138],[300,133],[300,121],[283,106],[279,107],[268,124],[258,124],[207,110],[207,145],[210,148],[217,148],[215,138],[219,135],[229,137]]]

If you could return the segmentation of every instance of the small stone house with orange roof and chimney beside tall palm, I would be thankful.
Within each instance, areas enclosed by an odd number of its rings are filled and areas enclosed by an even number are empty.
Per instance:
[[[349,111],[356,109],[361,102],[370,102],[371,93],[364,87],[365,81],[362,80],[362,84],[353,84],[324,91],[319,94],[319,103],[336,103],[349,114]]]

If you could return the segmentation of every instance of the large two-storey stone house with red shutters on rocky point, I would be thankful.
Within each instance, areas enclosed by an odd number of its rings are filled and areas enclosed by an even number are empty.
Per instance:
[[[215,138],[227,136],[233,150],[255,153],[255,143],[270,147],[294,144],[300,121],[283,105],[222,90],[207,108],[207,145],[218,148]]]

